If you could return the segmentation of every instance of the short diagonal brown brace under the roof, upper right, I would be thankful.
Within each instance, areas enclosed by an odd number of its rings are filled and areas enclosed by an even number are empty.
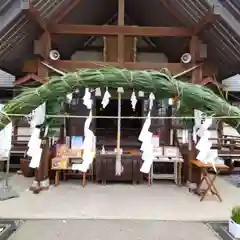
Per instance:
[[[202,19],[193,27],[194,35],[200,35],[204,30],[211,27],[219,19],[219,14],[209,11]]]

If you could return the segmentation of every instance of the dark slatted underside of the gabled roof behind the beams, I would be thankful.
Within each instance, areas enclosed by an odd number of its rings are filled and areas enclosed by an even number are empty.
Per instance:
[[[74,0],[34,0],[42,17],[54,20]],[[22,0],[6,0],[0,6],[0,68],[20,74],[24,59],[33,58],[33,41],[41,31],[25,14]],[[64,18],[64,23],[104,24],[117,12],[116,0],[80,0]],[[240,67],[240,3],[236,0],[126,0],[126,12],[138,25],[193,27],[215,4],[220,14],[216,23],[203,33],[208,57],[219,63],[221,74],[230,76]],[[57,46],[68,58],[86,37],[63,36]],[[154,38],[153,41],[172,60],[182,52],[185,39]],[[173,48],[175,46],[175,49]],[[65,49],[66,51],[62,50]]]

